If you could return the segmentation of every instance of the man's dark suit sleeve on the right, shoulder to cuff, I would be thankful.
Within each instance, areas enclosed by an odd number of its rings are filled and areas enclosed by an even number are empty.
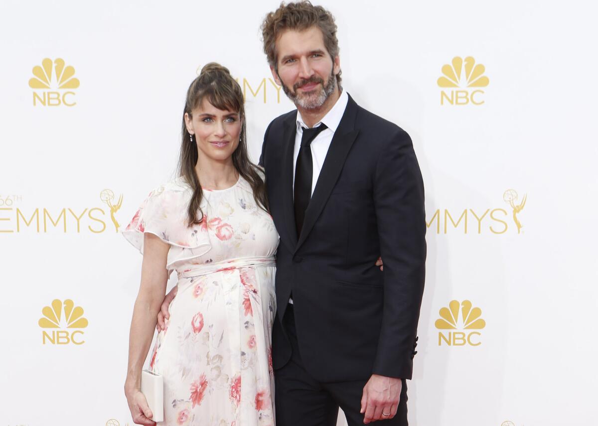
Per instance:
[[[426,261],[422,174],[411,138],[398,130],[380,153],[374,207],[384,259],[384,307],[373,373],[411,379]]]

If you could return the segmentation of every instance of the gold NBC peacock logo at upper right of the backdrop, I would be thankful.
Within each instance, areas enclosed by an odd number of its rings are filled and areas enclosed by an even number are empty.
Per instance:
[[[490,84],[484,72],[486,67],[475,63],[472,56],[453,57],[451,63],[443,66],[443,75],[437,81],[439,87],[446,89],[440,91],[440,105],[445,101],[450,105],[484,104],[484,91],[480,88]]]

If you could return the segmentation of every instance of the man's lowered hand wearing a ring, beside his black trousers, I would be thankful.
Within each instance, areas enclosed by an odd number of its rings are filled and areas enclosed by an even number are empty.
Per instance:
[[[401,387],[401,379],[373,374],[365,384],[361,397],[360,413],[365,413],[364,424],[392,419],[399,406]]]

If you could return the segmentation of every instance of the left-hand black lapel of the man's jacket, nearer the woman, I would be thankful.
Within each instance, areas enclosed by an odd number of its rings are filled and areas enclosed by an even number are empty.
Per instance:
[[[297,133],[297,115],[291,114],[285,121],[283,134],[283,156],[282,156],[282,194],[283,228],[282,241],[288,243],[289,251],[294,252],[297,246],[297,230],[295,229],[295,209],[293,204],[293,151],[295,148],[295,134]]]

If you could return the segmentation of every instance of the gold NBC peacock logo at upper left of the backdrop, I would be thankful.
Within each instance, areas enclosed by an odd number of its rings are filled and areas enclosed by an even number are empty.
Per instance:
[[[33,67],[33,75],[29,79],[29,87],[33,90],[33,106],[75,106],[75,92],[79,87],[79,79],[74,77],[75,68],[66,65],[65,60],[44,58],[41,66]]]

